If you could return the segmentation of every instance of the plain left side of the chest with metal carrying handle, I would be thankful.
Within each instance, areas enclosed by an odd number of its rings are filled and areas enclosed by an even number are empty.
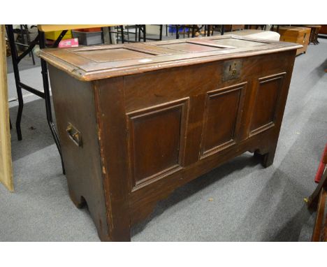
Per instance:
[[[92,83],[75,80],[51,65],[49,71],[69,194],[76,205],[87,202],[99,235],[106,236],[106,200]],[[73,137],[75,133],[79,142]]]

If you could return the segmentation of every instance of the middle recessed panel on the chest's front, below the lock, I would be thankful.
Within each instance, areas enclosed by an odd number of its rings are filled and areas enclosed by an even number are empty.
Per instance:
[[[242,114],[245,85],[246,82],[243,82],[207,93],[201,157],[235,144]]]

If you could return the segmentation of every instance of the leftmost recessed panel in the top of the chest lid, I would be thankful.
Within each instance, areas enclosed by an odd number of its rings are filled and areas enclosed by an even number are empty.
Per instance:
[[[156,54],[140,52],[126,48],[103,49],[103,50],[82,50],[75,52],[78,55],[87,57],[95,62],[112,62],[126,59],[139,59],[144,57],[153,57]]]

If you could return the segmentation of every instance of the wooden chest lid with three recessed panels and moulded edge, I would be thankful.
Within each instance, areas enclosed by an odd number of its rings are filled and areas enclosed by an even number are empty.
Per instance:
[[[302,48],[302,45],[228,35],[122,45],[47,48],[41,50],[39,56],[78,80],[89,81],[298,48]]]

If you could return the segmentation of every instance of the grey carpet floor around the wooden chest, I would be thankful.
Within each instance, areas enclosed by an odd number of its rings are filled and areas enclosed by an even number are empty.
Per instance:
[[[310,240],[315,214],[303,198],[327,139],[327,40],[319,41],[296,58],[273,166],[242,154],[160,201],[132,241]],[[0,186],[0,241],[99,241],[87,209],[68,197],[43,100],[25,101],[23,140],[11,131],[15,193]],[[17,103],[10,107],[14,120]]]

